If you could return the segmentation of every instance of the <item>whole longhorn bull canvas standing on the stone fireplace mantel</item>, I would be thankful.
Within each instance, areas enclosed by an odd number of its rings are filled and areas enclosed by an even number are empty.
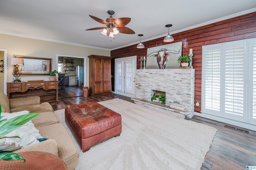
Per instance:
[[[182,42],[148,48],[146,69],[178,69],[177,59],[182,53]]]

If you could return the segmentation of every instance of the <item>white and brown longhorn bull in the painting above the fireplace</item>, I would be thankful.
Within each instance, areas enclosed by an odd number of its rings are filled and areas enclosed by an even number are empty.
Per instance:
[[[148,57],[154,56],[156,57],[156,61],[158,64],[158,68],[159,69],[165,69],[166,68],[166,63],[169,59],[169,53],[174,53],[174,54],[178,54],[180,53],[179,51],[174,51],[174,50],[168,50],[166,48],[162,48],[159,49],[158,51],[151,53],[150,55],[148,55]]]

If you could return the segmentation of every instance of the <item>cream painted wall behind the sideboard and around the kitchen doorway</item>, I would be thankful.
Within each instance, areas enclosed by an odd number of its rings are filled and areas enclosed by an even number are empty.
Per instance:
[[[29,57],[52,58],[52,70],[56,70],[56,55],[70,55],[86,57],[86,86],[89,85],[89,59],[88,55],[110,56],[110,50],[94,49],[78,45],[69,45],[64,43],[48,42],[35,40],[31,38],[22,38],[0,34],[0,48],[7,49],[7,82],[11,82],[13,75],[13,65],[10,64],[11,57],[14,55],[24,55]],[[49,76],[21,76],[21,81],[32,79],[48,80]],[[0,82],[4,83],[4,82]]]

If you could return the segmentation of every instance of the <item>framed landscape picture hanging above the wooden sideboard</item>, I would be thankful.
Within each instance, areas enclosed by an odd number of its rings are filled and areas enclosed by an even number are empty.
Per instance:
[[[51,58],[26,57],[20,55],[14,55],[14,57],[23,59],[23,65],[18,65],[18,69],[21,73],[20,76],[48,75],[48,72],[52,71]]]

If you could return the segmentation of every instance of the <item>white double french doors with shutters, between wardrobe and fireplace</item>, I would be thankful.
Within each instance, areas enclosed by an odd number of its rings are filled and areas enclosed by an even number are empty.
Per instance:
[[[135,97],[136,56],[115,59],[115,93]]]

